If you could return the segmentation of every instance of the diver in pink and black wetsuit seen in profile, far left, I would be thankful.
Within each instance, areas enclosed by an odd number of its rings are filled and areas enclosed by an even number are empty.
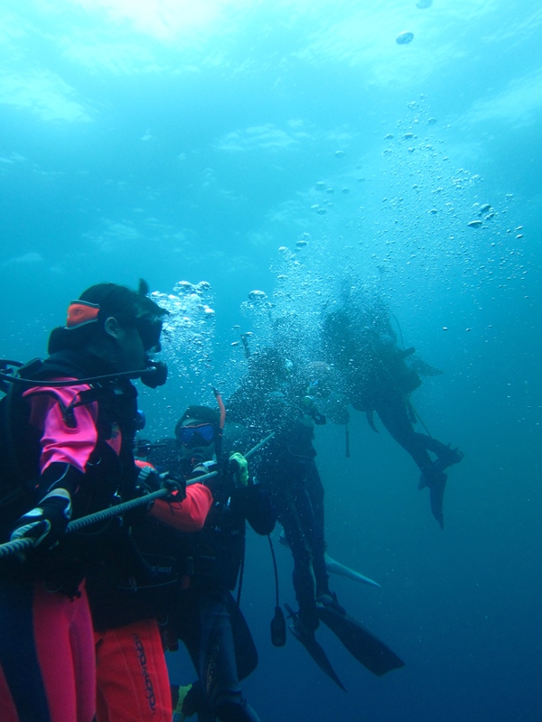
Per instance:
[[[115,563],[123,532],[117,517],[98,532],[65,531],[70,519],[135,496],[140,418],[130,379],[156,388],[167,375],[150,358],[166,311],[147,292],[145,282],[137,292],[91,286],[52,330],[45,361],[3,364],[0,542],[11,540],[0,559],[3,719],[95,719],[84,579],[100,559]],[[20,540],[29,542],[23,551],[4,555]]]

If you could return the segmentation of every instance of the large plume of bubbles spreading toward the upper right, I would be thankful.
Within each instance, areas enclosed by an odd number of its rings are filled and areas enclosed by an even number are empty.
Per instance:
[[[253,291],[242,304],[251,346],[318,358],[322,318],[345,302],[349,286],[363,308],[371,296],[394,303],[414,294],[425,304],[443,282],[470,295],[523,288],[528,238],[515,198],[453,167],[449,128],[420,96],[384,126],[363,165],[345,168],[350,153],[336,151],[341,171],[307,192],[307,230],[278,248],[274,290]]]

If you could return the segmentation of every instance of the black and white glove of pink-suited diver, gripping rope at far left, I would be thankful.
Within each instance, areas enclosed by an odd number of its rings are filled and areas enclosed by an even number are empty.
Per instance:
[[[42,498],[39,506],[23,514],[17,521],[10,539],[32,539],[34,547],[51,549],[66,531],[71,518],[70,493],[61,487],[53,489]],[[22,551],[19,557],[24,559],[26,552]]]

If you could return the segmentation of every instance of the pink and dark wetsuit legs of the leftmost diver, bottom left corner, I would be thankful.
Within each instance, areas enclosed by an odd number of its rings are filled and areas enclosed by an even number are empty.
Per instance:
[[[96,666],[84,586],[71,600],[43,584],[0,582],[0,719],[92,722]]]

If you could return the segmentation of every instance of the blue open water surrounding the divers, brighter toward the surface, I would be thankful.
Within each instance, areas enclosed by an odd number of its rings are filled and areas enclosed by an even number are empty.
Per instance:
[[[291,635],[273,648],[249,532],[243,686],[263,722],[542,718],[541,32],[535,0],[0,7],[1,356],[43,356],[86,287],[144,277],[172,310],[170,379],[141,390],[156,438],[209,384],[233,391],[239,332],[265,347],[285,319],[314,360],[322,310],[356,282],[444,371],[412,397],[465,454],[444,532],[378,419],[352,412],[350,458],[341,426],[315,441],[329,551],[382,585],[332,588],[406,667],[373,677],[323,628],[345,694]]]

